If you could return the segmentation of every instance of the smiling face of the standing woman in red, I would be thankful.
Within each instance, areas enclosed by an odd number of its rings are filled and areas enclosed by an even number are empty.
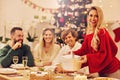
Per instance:
[[[88,23],[95,28],[97,26],[98,23],[98,13],[96,10],[91,10],[87,16],[87,21]]]

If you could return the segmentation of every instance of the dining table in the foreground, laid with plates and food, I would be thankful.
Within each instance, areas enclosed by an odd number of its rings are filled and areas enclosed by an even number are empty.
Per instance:
[[[87,77],[86,79],[75,79],[74,74],[75,73],[55,73],[49,68],[44,70],[42,67],[27,67],[20,69],[11,67],[0,68],[0,80],[119,80],[107,77]]]

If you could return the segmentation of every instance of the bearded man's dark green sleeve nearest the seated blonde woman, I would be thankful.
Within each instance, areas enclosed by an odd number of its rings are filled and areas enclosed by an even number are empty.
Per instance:
[[[31,67],[31,66],[34,66],[34,59],[33,59],[33,55],[32,55],[32,52],[30,50],[30,47],[28,45],[25,46],[25,49],[26,49],[26,55],[28,57],[28,66]]]

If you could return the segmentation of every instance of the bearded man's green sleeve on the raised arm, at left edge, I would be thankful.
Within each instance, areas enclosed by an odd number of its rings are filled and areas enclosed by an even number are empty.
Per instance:
[[[2,67],[9,67],[12,63],[14,50],[10,46],[5,46],[0,50],[0,63]]]

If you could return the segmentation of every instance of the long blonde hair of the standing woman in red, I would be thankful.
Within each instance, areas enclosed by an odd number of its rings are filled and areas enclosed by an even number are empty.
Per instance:
[[[96,10],[97,11],[97,14],[98,14],[98,23],[95,27],[95,29],[91,29],[91,25],[89,24],[89,22],[87,21],[87,30],[86,30],[86,34],[90,34],[90,31],[92,30],[94,32],[94,35],[93,35],[93,38],[91,40],[91,47],[95,50],[95,51],[98,51],[98,47],[99,47],[99,44],[100,44],[100,40],[99,40],[99,37],[98,37],[98,32],[99,32],[99,29],[102,28],[102,22],[103,22],[103,12],[102,12],[102,9],[100,7],[97,7],[97,6],[93,6],[90,8],[90,10],[88,11],[88,14],[87,16],[89,15],[89,12],[91,10]]]

